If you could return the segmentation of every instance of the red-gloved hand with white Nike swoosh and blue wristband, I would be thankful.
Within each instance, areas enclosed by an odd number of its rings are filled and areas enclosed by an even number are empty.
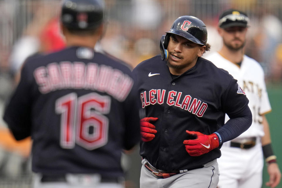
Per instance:
[[[183,142],[186,151],[191,156],[203,155],[219,146],[219,140],[215,133],[211,135],[204,135],[201,132],[196,131],[186,130],[186,132],[188,135],[196,137],[193,140],[184,140]]]

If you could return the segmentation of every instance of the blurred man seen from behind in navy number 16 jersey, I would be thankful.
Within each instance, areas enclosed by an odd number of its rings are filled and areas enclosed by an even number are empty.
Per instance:
[[[29,59],[4,120],[17,140],[31,135],[35,188],[122,188],[123,149],[140,140],[132,72],[93,50],[103,33],[104,3],[66,0],[67,48]]]

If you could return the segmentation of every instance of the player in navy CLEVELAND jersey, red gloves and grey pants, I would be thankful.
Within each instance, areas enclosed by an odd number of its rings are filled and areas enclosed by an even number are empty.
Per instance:
[[[200,19],[177,18],[160,48],[133,70],[145,116],[140,187],[215,188],[219,148],[251,125],[248,99],[227,71],[201,57],[210,46]]]

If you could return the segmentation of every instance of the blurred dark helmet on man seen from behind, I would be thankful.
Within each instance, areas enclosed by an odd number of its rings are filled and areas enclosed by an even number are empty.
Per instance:
[[[93,29],[104,19],[102,0],[64,0],[61,22],[70,29]]]

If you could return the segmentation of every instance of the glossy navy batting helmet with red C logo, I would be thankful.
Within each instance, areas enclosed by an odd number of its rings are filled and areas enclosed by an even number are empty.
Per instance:
[[[162,36],[160,42],[162,60],[167,58],[167,45],[171,34],[182,36],[199,45],[207,44],[207,27],[202,20],[194,16],[180,16],[165,33],[167,34]]]

